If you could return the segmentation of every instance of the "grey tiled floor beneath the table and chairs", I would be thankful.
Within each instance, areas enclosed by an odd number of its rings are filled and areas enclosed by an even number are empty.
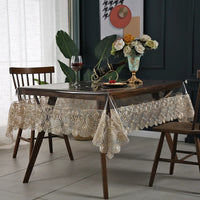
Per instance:
[[[28,184],[22,183],[28,162],[28,146],[21,146],[17,159],[12,159],[12,149],[0,150],[0,199],[103,199],[98,149],[90,141],[70,141],[75,157],[73,162],[68,158],[63,140],[54,140],[52,155],[48,152],[47,142],[43,143]],[[161,163],[154,186],[147,186],[157,142],[157,139],[131,137],[120,154],[107,160],[110,199],[200,198],[200,174],[197,166],[177,165],[175,175],[169,176],[169,164]],[[180,143],[180,146],[193,148],[191,144]],[[163,153],[168,154],[167,146]]]

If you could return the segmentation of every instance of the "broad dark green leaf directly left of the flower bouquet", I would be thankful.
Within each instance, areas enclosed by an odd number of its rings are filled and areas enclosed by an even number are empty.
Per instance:
[[[117,35],[111,35],[101,40],[95,48],[95,56],[100,60],[105,60],[110,57],[112,44],[116,40]]]

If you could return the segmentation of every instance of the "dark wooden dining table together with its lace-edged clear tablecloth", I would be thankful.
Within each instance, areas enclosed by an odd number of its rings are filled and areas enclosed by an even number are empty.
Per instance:
[[[83,81],[78,87],[55,83],[20,87],[17,95],[21,99],[11,105],[7,135],[19,127],[38,131],[23,183],[29,182],[45,133],[92,136],[100,152],[104,199],[109,198],[107,158],[128,145],[129,134],[168,121],[191,120],[194,115],[182,81],[147,80],[142,85]],[[23,100],[27,95],[34,100]],[[167,142],[171,149],[170,134]]]

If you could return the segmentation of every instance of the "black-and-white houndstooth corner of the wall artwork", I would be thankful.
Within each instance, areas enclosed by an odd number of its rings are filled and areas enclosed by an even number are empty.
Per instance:
[[[107,20],[110,16],[110,11],[117,5],[122,5],[124,0],[103,0],[102,2],[102,18]]]

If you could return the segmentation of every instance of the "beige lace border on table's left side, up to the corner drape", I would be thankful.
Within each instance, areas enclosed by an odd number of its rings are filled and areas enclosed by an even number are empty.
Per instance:
[[[11,104],[6,136],[13,130],[31,129],[54,134],[72,134],[88,137],[94,135],[102,111],[95,101],[58,99],[55,106],[48,105],[48,98],[16,101]]]

